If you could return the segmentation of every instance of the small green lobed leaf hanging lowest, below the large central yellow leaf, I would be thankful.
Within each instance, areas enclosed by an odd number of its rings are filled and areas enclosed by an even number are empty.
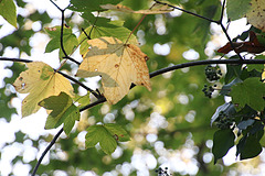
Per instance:
[[[87,129],[86,147],[94,147],[99,143],[102,150],[110,155],[116,150],[118,141],[129,141],[128,133],[118,124],[96,124]]]

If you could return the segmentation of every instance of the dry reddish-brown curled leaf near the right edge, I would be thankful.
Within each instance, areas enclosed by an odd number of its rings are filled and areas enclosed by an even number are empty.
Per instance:
[[[258,54],[265,51],[265,46],[258,42],[257,36],[253,31],[250,31],[250,42],[233,42],[233,45],[236,53],[248,52]],[[223,54],[227,54],[231,51],[233,51],[233,47],[230,42],[218,50],[219,53]]]

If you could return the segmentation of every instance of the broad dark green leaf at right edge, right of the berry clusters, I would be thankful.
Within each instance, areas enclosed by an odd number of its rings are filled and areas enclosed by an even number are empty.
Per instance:
[[[262,111],[265,107],[265,84],[259,81],[259,78],[247,78],[243,82],[236,84],[231,91],[232,101],[237,105],[240,109],[245,105],[252,109]]]

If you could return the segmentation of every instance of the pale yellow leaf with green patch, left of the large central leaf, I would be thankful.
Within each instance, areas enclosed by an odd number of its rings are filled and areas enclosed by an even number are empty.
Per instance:
[[[61,91],[73,97],[71,82],[42,62],[26,64],[29,69],[21,73],[13,86],[18,92],[29,94],[22,101],[22,117],[35,113],[41,107],[38,103]]]

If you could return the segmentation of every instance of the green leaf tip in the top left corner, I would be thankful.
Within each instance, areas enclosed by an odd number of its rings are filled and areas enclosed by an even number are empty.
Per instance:
[[[13,0],[0,0],[0,15],[15,29],[18,28],[17,10]]]

